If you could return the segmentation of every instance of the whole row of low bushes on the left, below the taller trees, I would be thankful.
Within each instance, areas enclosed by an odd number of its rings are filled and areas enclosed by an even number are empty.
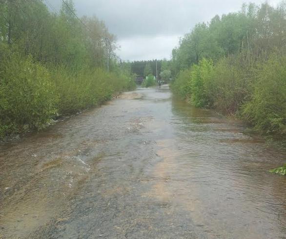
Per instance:
[[[44,67],[0,45],[0,138],[41,129],[55,117],[76,113],[136,87],[129,76],[102,69]]]

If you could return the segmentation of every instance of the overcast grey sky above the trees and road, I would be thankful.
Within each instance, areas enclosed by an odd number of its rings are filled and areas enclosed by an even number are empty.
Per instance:
[[[49,0],[59,8],[61,0]],[[96,15],[118,38],[123,60],[169,59],[179,38],[216,14],[240,10],[248,0],[74,0],[79,16]],[[260,4],[265,0],[251,0]],[[268,0],[276,6],[280,0]]]

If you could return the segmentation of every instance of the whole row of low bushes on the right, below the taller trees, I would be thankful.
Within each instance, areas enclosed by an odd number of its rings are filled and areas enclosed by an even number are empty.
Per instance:
[[[242,117],[259,132],[286,136],[286,57],[272,57],[261,66],[245,54],[202,60],[181,71],[171,84],[175,94],[196,107],[211,106]]]

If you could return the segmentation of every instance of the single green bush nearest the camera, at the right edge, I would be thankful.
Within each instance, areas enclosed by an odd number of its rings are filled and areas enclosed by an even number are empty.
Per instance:
[[[243,117],[266,134],[286,136],[286,57],[272,57],[262,65]]]

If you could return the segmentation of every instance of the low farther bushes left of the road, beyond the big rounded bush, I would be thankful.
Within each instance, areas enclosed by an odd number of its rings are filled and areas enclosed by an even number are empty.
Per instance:
[[[116,92],[135,88],[135,82],[125,75],[107,73],[102,69],[82,69],[72,72],[58,68],[53,72],[59,113],[75,113],[87,107],[110,100]]]

